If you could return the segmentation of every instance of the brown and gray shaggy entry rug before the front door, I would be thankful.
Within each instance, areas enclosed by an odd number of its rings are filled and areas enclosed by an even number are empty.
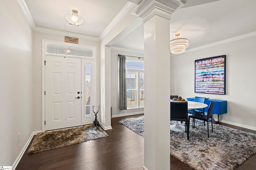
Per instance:
[[[98,129],[96,129],[96,127],[92,129],[92,125],[38,133],[28,149],[28,154],[65,147],[103,137],[108,137],[108,134],[100,126]]]

